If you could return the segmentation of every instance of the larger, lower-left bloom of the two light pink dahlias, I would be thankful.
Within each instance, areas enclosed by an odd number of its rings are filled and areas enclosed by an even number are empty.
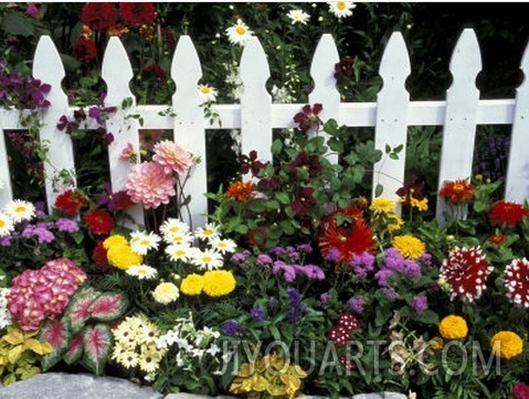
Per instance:
[[[127,180],[127,194],[135,203],[146,208],[156,208],[169,204],[169,197],[176,195],[174,177],[166,173],[156,162],[141,162],[133,166]]]

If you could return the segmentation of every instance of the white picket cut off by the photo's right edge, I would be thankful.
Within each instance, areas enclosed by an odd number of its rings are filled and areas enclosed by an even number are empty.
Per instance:
[[[507,201],[522,204],[529,198],[529,44],[521,58],[520,69],[523,82],[516,90],[516,107],[510,134],[509,161],[505,197]]]

